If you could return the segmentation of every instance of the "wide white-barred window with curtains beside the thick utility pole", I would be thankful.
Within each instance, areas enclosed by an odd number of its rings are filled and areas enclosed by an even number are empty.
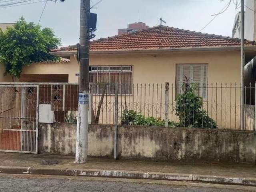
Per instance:
[[[92,83],[118,83],[119,94],[132,94],[132,66],[90,66],[89,81]],[[106,90],[114,94],[114,87]],[[94,93],[101,94],[102,89],[97,88]]]

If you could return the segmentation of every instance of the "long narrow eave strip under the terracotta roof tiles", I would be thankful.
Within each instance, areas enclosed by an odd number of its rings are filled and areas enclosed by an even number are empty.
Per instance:
[[[256,46],[245,46],[246,51],[256,51]],[[151,49],[151,50],[99,50],[90,51],[90,54],[157,54],[171,52],[198,52],[198,51],[239,51],[240,46],[230,47],[202,47],[202,48],[177,48],[177,49]],[[76,54],[74,51],[50,52],[54,56],[69,57]]]

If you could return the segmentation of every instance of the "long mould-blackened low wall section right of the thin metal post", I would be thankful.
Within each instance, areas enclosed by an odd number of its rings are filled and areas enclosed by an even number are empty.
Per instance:
[[[121,126],[118,155],[169,162],[255,163],[255,132]]]

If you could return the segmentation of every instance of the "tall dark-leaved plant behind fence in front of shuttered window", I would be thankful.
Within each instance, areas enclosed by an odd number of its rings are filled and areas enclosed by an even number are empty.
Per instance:
[[[183,93],[176,98],[176,114],[180,127],[217,128],[216,122],[207,116],[203,108],[202,97],[196,94],[198,85],[186,82],[182,85]]]

